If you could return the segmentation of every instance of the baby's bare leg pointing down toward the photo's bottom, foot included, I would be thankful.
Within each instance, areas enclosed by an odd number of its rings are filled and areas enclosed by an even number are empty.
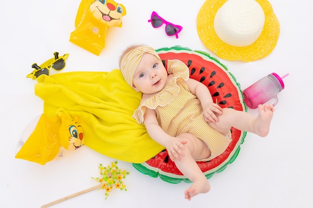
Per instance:
[[[184,192],[185,199],[190,201],[191,198],[195,195],[199,193],[206,193],[210,190],[210,185],[199,166],[196,164],[194,158],[201,157],[201,155],[205,155],[204,157],[209,157],[210,152],[204,142],[191,134],[183,133],[177,137],[187,141],[187,143],[184,145],[186,147],[183,151],[184,157],[181,157],[180,161],[175,160],[174,163],[179,171],[193,182],[192,185]],[[202,152],[203,154],[201,154]]]

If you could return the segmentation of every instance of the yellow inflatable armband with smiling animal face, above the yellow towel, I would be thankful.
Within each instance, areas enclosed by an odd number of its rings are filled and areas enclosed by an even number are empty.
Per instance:
[[[107,28],[121,27],[125,14],[125,7],[113,0],[81,0],[69,41],[99,55],[105,46]]]

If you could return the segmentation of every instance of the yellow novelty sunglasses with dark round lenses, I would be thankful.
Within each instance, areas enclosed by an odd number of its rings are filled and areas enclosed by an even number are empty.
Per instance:
[[[33,63],[31,65],[31,68],[34,68],[34,70],[27,74],[27,78],[36,79],[38,76],[45,74],[49,75],[50,70],[49,68],[54,69],[55,71],[60,71],[65,68],[65,59],[68,57],[68,53],[65,53],[62,56],[58,56],[58,52],[53,53],[54,58],[50,58],[49,60],[45,61],[44,63],[40,64],[38,66],[36,63]]]

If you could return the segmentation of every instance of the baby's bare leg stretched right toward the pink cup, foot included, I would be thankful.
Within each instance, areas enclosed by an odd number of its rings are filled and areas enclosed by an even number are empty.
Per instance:
[[[272,105],[259,105],[258,116],[255,118],[253,115],[244,111],[224,108],[222,115],[217,116],[218,122],[209,124],[224,135],[231,127],[234,127],[241,131],[251,132],[265,137],[269,132],[273,111],[274,108]]]

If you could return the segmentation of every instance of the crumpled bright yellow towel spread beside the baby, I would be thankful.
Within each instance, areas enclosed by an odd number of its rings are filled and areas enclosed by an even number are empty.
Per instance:
[[[37,81],[35,95],[44,101],[43,113],[53,116],[62,109],[78,116],[91,149],[131,163],[142,163],[164,149],[131,117],[141,94],[120,70],[41,75]]]

